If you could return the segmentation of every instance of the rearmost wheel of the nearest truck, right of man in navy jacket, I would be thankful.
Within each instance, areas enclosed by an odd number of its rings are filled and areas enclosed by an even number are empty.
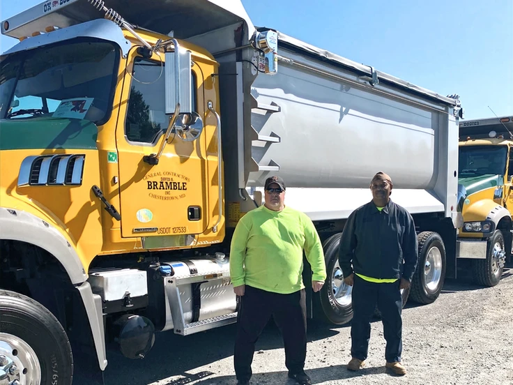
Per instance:
[[[433,303],[440,295],[443,282],[445,281],[445,272],[447,270],[445,246],[442,237],[436,232],[421,232],[417,237],[419,242],[419,260],[411,281],[410,298],[417,303]],[[433,250],[433,248],[436,248],[436,250]],[[434,253],[435,258],[432,260]],[[435,266],[432,266],[433,264]],[[437,266],[438,264],[441,264],[441,266]],[[429,272],[428,275],[426,275],[427,271]],[[438,271],[435,275],[436,282],[432,282],[431,285],[431,278],[434,277],[431,273],[436,271]],[[437,276],[438,274],[439,276]],[[427,278],[430,279],[429,282],[426,282]]]

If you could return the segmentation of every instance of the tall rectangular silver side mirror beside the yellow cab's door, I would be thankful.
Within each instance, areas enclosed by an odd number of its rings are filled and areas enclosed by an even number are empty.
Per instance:
[[[166,114],[192,112],[192,64],[190,51],[184,50],[173,39],[174,52],[166,52],[165,93]]]

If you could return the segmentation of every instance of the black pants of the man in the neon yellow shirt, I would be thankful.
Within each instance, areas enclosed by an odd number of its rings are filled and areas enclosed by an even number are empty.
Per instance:
[[[233,364],[238,380],[252,375],[254,344],[273,315],[283,335],[285,365],[293,373],[305,367],[307,315],[305,289],[292,294],[266,292],[246,285],[240,297]]]

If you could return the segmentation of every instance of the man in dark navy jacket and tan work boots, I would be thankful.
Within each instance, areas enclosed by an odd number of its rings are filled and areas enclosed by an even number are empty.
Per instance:
[[[392,179],[378,172],[371,181],[372,201],[349,216],[340,241],[344,281],[353,287],[349,370],[365,365],[376,304],[383,319],[386,368],[405,375],[401,364],[401,289],[410,286],[418,261],[413,218],[390,200]]]

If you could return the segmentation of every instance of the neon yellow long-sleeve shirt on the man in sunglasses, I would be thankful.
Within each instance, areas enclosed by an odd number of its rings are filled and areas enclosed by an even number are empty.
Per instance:
[[[286,206],[266,206],[245,214],[238,222],[230,248],[230,275],[234,287],[290,294],[303,289],[303,250],[312,266],[312,280],[326,280],[323,248],[312,220]]]

